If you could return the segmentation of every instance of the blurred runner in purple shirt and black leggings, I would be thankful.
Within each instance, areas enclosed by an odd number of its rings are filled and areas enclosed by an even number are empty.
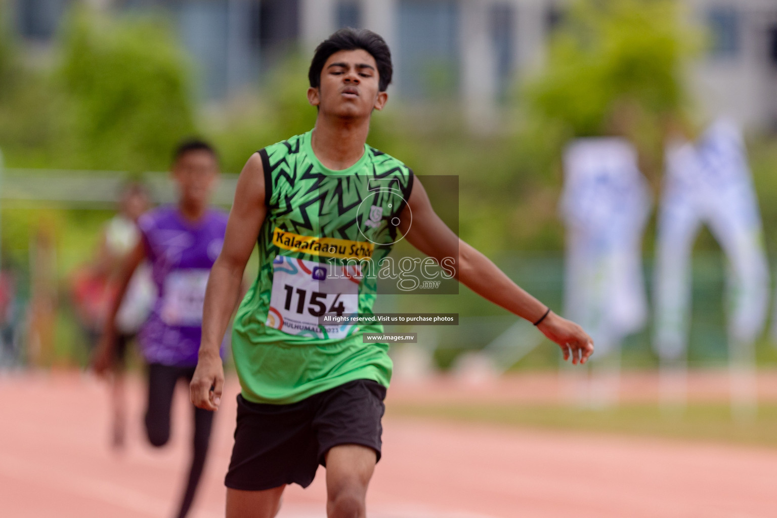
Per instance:
[[[117,297],[108,311],[94,362],[105,373],[116,357],[118,316],[134,271],[144,260],[152,269],[158,297],[140,332],[142,354],[148,363],[148,440],[162,447],[170,436],[172,395],[179,380],[190,381],[197,365],[205,286],[221,252],[227,214],[209,206],[219,176],[214,148],[203,141],[185,141],[176,148],[172,178],[178,188],[176,206],[164,206],[138,219],[140,240],[119,274]],[[224,346],[221,345],[223,355]],[[192,505],[205,465],[213,413],[193,410],[192,462],[176,516]]]

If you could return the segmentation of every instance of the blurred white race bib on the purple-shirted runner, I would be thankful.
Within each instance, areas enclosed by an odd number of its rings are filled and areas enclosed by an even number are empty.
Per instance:
[[[165,279],[160,318],[167,325],[201,325],[209,269],[179,269]]]

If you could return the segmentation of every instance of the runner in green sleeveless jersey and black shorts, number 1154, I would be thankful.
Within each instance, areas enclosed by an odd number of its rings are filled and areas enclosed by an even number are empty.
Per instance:
[[[363,342],[379,325],[319,318],[371,314],[375,270],[350,269],[347,260],[379,264],[398,233],[438,263],[452,261],[454,276],[476,293],[536,322],[565,359],[584,363],[594,350],[579,325],[554,315],[446,227],[406,165],[365,144],[392,77],[381,37],[337,31],[315,50],[308,76],[315,127],[246,162],[207,283],[191,397],[216,410],[224,384],[218,347],[258,238],[259,275],[232,334],[242,393],[225,480],[228,518],[275,516],[284,487],[306,487],[319,464],[327,516],[364,518],[381,455],[388,345]]]

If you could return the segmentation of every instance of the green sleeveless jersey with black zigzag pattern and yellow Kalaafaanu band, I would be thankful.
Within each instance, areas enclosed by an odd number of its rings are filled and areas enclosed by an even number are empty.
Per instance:
[[[250,402],[287,404],[348,381],[388,387],[391,379],[388,344],[362,340],[382,325],[347,317],[372,314],[376,274],[401,238],[413,172],[367,145],[350,168],[327,169],[313,154],[311,133],[260,150],[267,216],[259,274],[232,331]]]

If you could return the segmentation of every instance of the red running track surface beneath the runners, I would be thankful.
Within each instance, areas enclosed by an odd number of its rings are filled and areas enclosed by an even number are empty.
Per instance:
[[[0,516],[171,516],[188,462],[186,393],[171,443],[142,437],[130,384],[127,449],[108,447],[108,398],[79,374],[0,377]],[[223,516],[237,387],[228,383],[190,516]],[[390,405],[389,401],[389,405]],[[323,518],[322,473],[287,489],[280,518]],[[371,518],[772,518],[777,450],[386,419]]]

